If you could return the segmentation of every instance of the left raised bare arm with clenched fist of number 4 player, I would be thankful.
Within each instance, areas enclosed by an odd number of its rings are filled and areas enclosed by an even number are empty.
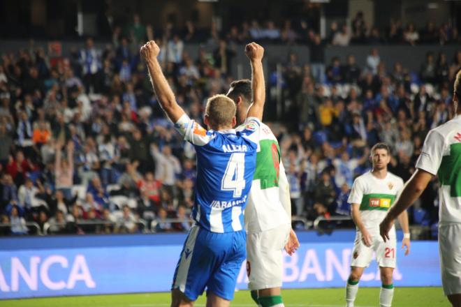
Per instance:
[[[152,83],[154,93],[157,96],[163,111],[165,111],[173,123],[176,123],[177,120],[185,113],[184,110],[182,110],[182,107],[177,104],[175,94],[171,90],[170,85],[168,85],[168,82],[161,71],[161,66],[159,61],[157,61],[159,52],[160,48],[154,40],[150,40],[140,49],[140,54],[149,69],[150,81]]]

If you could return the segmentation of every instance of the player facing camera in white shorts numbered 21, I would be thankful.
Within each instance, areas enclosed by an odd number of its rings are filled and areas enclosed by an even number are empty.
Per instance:
[[[351,215],[356,223],[356,241],[351,257],[351,275],[346,285],[346,306],[353,307],[358,292],[358,281],[365,267],[372,261],[373,253],[376,254],[381,272],[381,292],[379,306],[390,307],[392,304],[394,287],[393,271],[397,240],[395,227],[390,230],[390,239],[386,242],[379,237],[379,223],[386,216],[393,205],[397,195],[402,190],[402,178],[388,172],[390,150],[384,143],[375,144],[371,153],[372,170],[357,177],[353,183],[348,202],[351,204]],[[410,234],[407,211],[399,216],[399,222],[404,231],[402,248],[405,246],[408,255],[410,248]]]

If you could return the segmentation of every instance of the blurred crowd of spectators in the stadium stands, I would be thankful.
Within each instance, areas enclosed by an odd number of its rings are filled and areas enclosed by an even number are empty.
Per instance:
[[[105,50],[88,38],[85,47],[64,59],[48,57],[41,48],[3,54],[0,223],[10,227],[0,227],[2,234],[34,232],[27,222],[48,234],[189,229],[195,152],[152,93],[138,44],[154,35],[135,20],[129,38],[117,28],[113,45]],[[445,26],[429,24],[420,36],[412,28],[403,31],[393,23],[388,38],[411,43],[458,39]],[[359,14],[351,40],[366,30]],[[232,28],[226,39],[211,29],[208,38],[217,39],[217,49],[193,57],[183,52],[193,33],[188,23],[184,33],[164,33],[158,43],[177,101],[196,121],[202,121],[206,98],[225,93],[233,80],[228,72],[234,51],[228,45],[261,38],[261,33],[282,41],[298,38],[289,22],[281,30],[268,22],[264,31],[252,22],[243,31]],[[330,37],[332,43],[346,41],[341,33]],[[390,171],[404,181],[411,177],[427,131],[453,116],[449,85],[461,68],[461,50],[427,54],[421,70],[410,72],[404,63],[383,63],[377,49],[365,67],[353,56],[325,67],[315,61],[315,46],[323,44],[319,34],[313,33],[309,44],[311,63],[299,63],[294,53],[284,63],[289,122],[268,124],[281,144],[293,215],[312,221],[349,216],[351,184],[369,169],[369,148],[376,142],[393,149]],[[271,79],[268,87],[274,83]],[[411,223],[437,223],[436,195],[433,181],[411,212]]]

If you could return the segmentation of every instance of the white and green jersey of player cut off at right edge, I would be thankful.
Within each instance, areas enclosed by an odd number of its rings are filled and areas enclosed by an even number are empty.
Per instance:
[[[461,115],[430,130],[416,167],[439,176],[439,224],[461,223]]]

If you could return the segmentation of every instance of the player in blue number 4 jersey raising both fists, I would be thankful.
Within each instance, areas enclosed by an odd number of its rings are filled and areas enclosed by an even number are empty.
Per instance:
[[[265,102],[262,58],[256,43],[246,46],[251,63],[253,103],[245,128],[236,132],[235,104],[217,95],[207,100],[205,130],[177,104],[159,62],[159,46],[149,41],[140,53],[163,110],[197,153],[197,184],[191,227],[177,264],[171,306],[193,306],[207,287],[207,306],[229,306],[237,274],[246,257],[244,207],[256,169],[261,118]]]

